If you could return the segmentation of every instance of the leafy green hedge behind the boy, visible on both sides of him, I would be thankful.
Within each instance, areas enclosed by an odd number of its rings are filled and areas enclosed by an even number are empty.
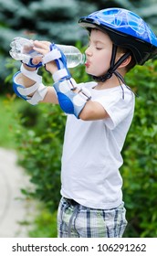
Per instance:
[[[83,68],[71,69],[79,82],[89,80]],[[44,81],[51,77],[43,70]],[[126,81],[138,94],[130,133],[122,150],[123,193],[127,208],[126,237],[157,236],[157,61],[137,66]],[[19,162],[26,167],[34,191],[24,191],[42,200],[50,212],[56,211],[60,198],[60,157],[66,116],[58,106],[24,102],[19,110],[16,130]]]

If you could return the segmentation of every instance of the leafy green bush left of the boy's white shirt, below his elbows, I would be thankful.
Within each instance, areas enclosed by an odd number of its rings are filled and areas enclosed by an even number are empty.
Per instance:
[[[30,106],[31,107],[31,106]],[[57,106],[40,105],[37,108],[38,123],[29,115],[21,118],[23,126],[17,131],[19,163],[36,185],[34,192],[27,191],[44,201],[52,211],[58,208],[60,190],[60,157],[62,150],[65,116]],[[25,127],[24,127],[25,126]],[[35,128],[36,127],[36,128]]]

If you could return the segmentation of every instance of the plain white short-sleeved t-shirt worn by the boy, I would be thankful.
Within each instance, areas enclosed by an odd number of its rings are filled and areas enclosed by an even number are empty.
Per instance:
[[[120,151],[133,117],[134,94],[125,85],[105,90],[93,89],[92,82],[83,86],[91,91],[92,101],[98,101],[110,118],[82,121],[68,115],[61,195],[89,208],[116,208],[122,202]]]

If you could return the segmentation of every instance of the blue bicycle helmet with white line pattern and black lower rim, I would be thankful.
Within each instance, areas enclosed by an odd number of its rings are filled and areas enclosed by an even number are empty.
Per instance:
[[[113,44],[131,50],[137,64],[157,54],[157,37],[140,16],[121,8],[108,8],[83,16],[78,20],[81,27],[90,30],[98,27],[106,31]]]

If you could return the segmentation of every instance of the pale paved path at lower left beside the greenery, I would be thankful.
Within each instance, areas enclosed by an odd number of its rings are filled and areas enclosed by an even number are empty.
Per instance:
[[[28,176],[16,165],[16,153],[0,148],[0,238],[25,238],[32,202],[26,200],[20,189],[29,187]]]

